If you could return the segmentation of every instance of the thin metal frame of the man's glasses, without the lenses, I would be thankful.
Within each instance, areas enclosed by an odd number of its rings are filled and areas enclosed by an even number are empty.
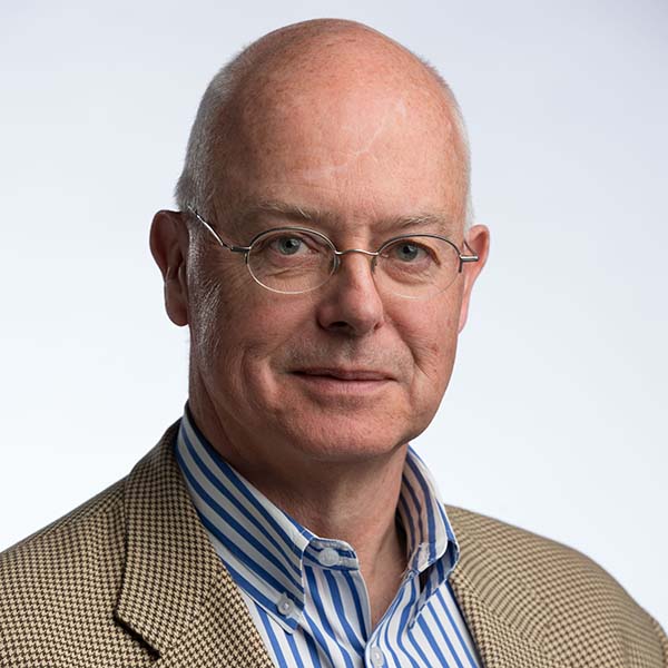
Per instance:
[[[438,234],[401,234],[399,236],[394,236],[385,242],[383,242],[383,244],[381,245],[381,247],[377,250],[366,250],[364,248],[346,248],[344,250],[338,250],[338,248],[336,248],[336,246],[334,245],[334,242],[326,235],[324,235],[322,232],[317,232],[317,229],[311,229],[310,227],[293,227],[293,226],[287,226],[287,227],[272,227],[271,229],[265,229],[258,234],[256,234],[252,239],[250,239],[250,244],[248,244],[248,246],[236,246],[234,244],[227,244],[226,242],[224,242],[220,236],[218,235],[218,233],[212,227],[212,225],[209,223],[207,223],[197,212],[197,209],[190,205],[187,206],[187,209],[189,213],[191,213],[195,218],[197,218],[197,220],[199,220],[199,223],[202,223],[202,225],[204,225],[204,227],[206,229],[208,229],[208,232],[210,232],[210,234],[214,236],[214,238],[216,239],[216,242],[218,242],[218,244],[220,246],[223,246],[223,248],[227,248],[227,250],[232,252],[232,253],[239,253],[244,255],[244,263],[246,264],[246,267],[248,269],[248,274],[250,274],[250,277],[253,278],[253,281],[255,281],[255,283],[257,283],[257,285],[264,287],[265,289],[268,289],[269,292],[279,294],[279,295],[302,295],[302,294],[306,294],[310,292],[313,292],[314,289],[317,289],[318,287],[322,287],[323,285],[325,285],[330,278],[338,271],[338,267],[341,266],[341,258],[344,255],[348,255],[350,253],[361,253],[362,255],[366,255],[367,257],[371,257],[371,271],[372,273],[375,272],[375,266],[377,264],[377,258],[381,256],[381,254],[383,253],[383,250],[390,246],[391,244],[400,240],[400,239],[404,239],[404,238],[432,238],[432,239],[440,239],[441,242],[445,242],[446,244],[450,244],[455,250],[456,254],[459,256],[459,269],[458,269],[458,274],[462,273],[463,266],[465,263],[470,263],[470,262],[478,262],[480,259],[480,256],[473,252],[473,248],[471,248],[471,246],[469,246],[469,244],[466,243],[466,239],[463,239],[464,243],[464,247],[469,250],[470,255],[464,255],[459,246],[454,243],[451,242],[449,238],[445,238],[443,236],[440,236]],[[274,287],[269,287],[268,285],[265,285],[264,283],[261,283],[261,281],[255,276],[255,274],[253,273],[253,271],[250,269],[250,265],[248,264],[248,256],[250,255],[250,250],[253,250],[253,246],[257,243],[258,239],[261,239],[262,237],[266,236],[267,234],[271,233],[275,233],[275,232],[303,232],[303,233],[307,233],[307,234],[313,234],[316,237],[321,238],[323,242],[325,242],[325,244],[332,249],[332,253],[334,254],[334,263],[332,266],[332,271],[330,272],[330,274],[327,275],[327,277],[320,283],[318,285],[315,285],[314,287],[310,287],[307,289],[299,289],[299,291],[291,291],[291,292],[286,292],[286,291],[282,291],[282,289],[276,289]],[[452,283],[450,283],[448,285],[448,287],[450,287],[450,285],[452,285]],[[445,292],[448,289],[448,287],[443,288],[440,292]],[[404,298],[413,298],[413,299],[419,299],[419,298],[424,298],[424,297],[420,297],[420,296],[414,296],[411,297],[409,295],[401,295],[399,293],[392,293],[392,294],[396,294],[400,297],[404,297]],[[440,294],[440,293],[435,293],[435,294]],[[433,295],[432,295],[433,296]]]

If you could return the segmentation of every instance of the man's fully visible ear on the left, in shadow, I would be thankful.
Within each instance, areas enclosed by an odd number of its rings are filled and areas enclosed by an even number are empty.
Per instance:
[[[150,252],[165,282],[165,310],[175,325],[188,324],[188,229],[183,214],[159,210],[150,226]]]

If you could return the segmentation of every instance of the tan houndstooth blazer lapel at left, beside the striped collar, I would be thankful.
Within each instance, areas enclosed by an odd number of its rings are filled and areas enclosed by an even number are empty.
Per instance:
[[[190,502],[173,445],[178,422],[126,482],[126,554],[116,619],[160,668],[272,668],[246,603]]]

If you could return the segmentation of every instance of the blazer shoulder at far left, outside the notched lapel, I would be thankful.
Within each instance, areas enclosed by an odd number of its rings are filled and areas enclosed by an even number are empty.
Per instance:
[[[104,665],[110,645],[127,664],[114,606],[122,577],[121,480],[0,553],[0,665]]]

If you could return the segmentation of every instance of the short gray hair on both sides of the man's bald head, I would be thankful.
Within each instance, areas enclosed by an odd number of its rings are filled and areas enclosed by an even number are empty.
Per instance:
[[[175,188],[175,198],[180,210],[187,210],[191,206],[205,217],[213,216],[212,203],[216,197],[217,181],[215,160],[220,156],[217,148],[224,148],[225,143],[230,140],[222,118],[235,97],[242,72],[246,71],[250,48],[242,50],[216,73],[199,102],[188,139],[184,168]],[[465,187],[464,229],[466,230],[473,224],[473,200],[471,196],[471,150],[464,117],[452,89],[436,68],[423,58],[415,57],[443,89],[452,109],[462,151]]]

